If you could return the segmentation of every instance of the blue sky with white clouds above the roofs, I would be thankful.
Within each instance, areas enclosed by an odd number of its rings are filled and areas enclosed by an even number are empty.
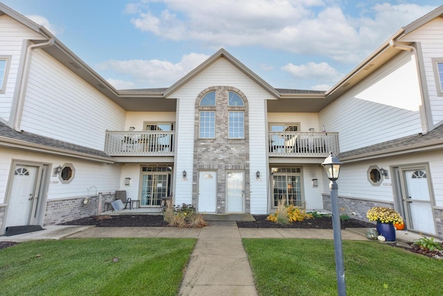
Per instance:
[[[0,0],[116,89],[170,87],[221,48],[275,88],[327,90],[435,0]]]

